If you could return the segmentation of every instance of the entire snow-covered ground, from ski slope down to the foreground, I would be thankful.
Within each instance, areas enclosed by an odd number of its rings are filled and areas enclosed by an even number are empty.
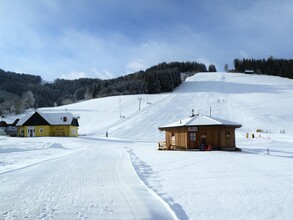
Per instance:
[[[210,108],[243,125],[241,152],[157,151],[160,125]],[[293,219],[292,109],[293,80],[236,73],[43,109],[82,136],[0,137],[0,219]]]

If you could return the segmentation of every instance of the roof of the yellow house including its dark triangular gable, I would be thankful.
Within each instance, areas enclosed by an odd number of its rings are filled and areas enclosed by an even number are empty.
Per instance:
[[[34,120],[32,120],[34,119]],[[37,123],[37,124],[36,124]],[[78,126],[77,117],[70,112],[40,112],[29,113],[23,116],[16,126],[23,125],[75,125]]]

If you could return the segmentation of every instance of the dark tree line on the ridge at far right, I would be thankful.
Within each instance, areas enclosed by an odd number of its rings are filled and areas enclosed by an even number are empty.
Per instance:
[[[293,79],[293,59],[235,59],[236,72],[253,70],[256,74],[274,75]]]

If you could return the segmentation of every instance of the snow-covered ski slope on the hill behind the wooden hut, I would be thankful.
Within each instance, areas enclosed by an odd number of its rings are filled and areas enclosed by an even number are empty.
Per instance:
[[[139,98],[141,110],[139,109]],[[293,80],[239,73],[198,73],[174,92],[160,95],[116,96],[62,106],[80,114],[80,133],[123,139],[162,138],[160,125],[191,115],[191,110],[239,122],[240,131],[262,129],[293,134]],[[54,110],[56,110],[54,109]],[[120,118],[125,116],[125,118]]]

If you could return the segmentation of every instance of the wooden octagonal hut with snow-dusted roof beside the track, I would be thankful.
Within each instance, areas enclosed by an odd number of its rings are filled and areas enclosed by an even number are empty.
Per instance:
[[[202,114],[159,127],[165,131],[167,149],[235,150],[235,129],[241,124]]]

